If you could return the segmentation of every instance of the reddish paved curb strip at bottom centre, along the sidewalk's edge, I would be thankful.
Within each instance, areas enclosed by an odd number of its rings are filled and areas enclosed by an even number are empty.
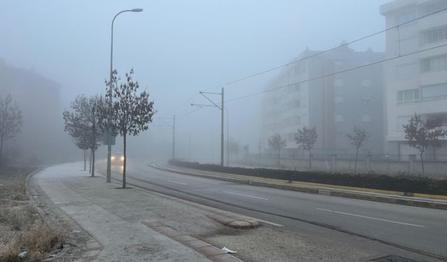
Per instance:
[[[172,238],[173,240],[185,245],[186,247],[190,247],[191,249],[196,250],[196,252],[203,254],[207,259],[210,259],[215,262],[243,262],[240,259],[237,259],[235,256],[231,256],[230,254],[226,254],[218,247],[214,247],[213,245],[204,242],[202,240],[198,240],[197,238],[193,238],[191,235],[187,235],[181,231],[177,231],[170,226],[165,226],[161,224],[159,221],[149,222],[142,221],[142,224],[151,228],[152,230],[161,233],[163,235]]]

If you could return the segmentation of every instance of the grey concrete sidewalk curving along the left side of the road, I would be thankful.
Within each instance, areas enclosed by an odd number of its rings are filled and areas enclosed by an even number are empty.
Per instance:
[[[34,179],[50,201],[101,246],[85,261],[240,261],[173,229],[186,224],[216,228],[207,212],[140,189],[116,189],[118,184],[89,177],[80,166],[68,163],[45,168]],[[166,226],[169,224],[174,226]]]

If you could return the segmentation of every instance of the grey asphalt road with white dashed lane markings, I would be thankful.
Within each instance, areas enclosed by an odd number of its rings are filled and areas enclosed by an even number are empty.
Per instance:
[[[103,170],[101,170],[103,171]],[[119,178],[119,168],[114,177]],[[386,242],[447,261],[447,211],[253,187],[129,164],[133,183],[299,231],[302,222]],[[154,188],[155,189],[155,188]],[[233,208],[231,208],[233,207]]]

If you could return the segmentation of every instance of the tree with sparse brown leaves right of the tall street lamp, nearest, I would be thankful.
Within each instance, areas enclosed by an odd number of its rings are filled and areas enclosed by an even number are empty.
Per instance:
[[[149,101],[149,93],[146,91],[138,94],[138,81],[133,80],[133,68],[126,73],[125,82],[117,85],[117,71],[112,72],[112,133],[123,137],[124,164],[123,164],[123,188],[126,188],[126,139],[128,135],[138,136],[141,131],[149,129],[149,123],[156,113],[154,102]],[[110,83],[109,83],[110,85]],[[107,112],[103,119],[107,118]]]

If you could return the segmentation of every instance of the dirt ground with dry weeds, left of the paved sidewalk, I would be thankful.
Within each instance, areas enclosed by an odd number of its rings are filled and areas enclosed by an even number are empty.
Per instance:
[[[85,252],[89,236],[78,234],[43,205],[45,196],[38,189],[29,189],[29,199],[26,180],[34,170],[0,169],[0,261],[75,261]]]

